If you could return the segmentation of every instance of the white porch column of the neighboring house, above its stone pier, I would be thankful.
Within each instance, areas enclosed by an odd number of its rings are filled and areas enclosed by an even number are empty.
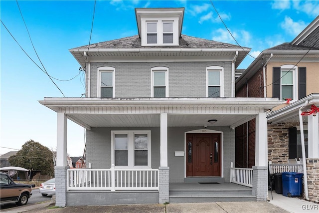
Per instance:
[[[308,115],[308,158],[319,158],[319,115]]]

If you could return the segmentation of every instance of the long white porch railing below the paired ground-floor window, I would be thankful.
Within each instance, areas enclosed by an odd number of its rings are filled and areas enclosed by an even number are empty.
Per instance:
[[[67,190],[159,190],[158,169],[68,169]]]

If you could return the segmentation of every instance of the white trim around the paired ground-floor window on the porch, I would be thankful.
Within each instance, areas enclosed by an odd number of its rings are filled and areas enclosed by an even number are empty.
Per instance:
[[[115,165],[114,137],[117,134],[128,135],[128,166],[115,166],[116,168],[152,168],[151,130],[116,130],[111,131],[111,165]],[[148,166],[134,166],[134,134],[148,135]]]

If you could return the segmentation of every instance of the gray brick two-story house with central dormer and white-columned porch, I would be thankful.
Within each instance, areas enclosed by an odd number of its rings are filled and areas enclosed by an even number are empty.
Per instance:
[[[266,201],[265,111],[278,99],[235,98],[235,70],[250,48],[181,34],[184,8],[135,12],[138,35],[70,49],[85,69],[85,98],[39,101],[57,112],[56,206],[173,202],[172,186],[229,183],[234,129],[253,118],[249,196]],[[91,166],[81,173],[64,160],[67,119],[86,129]],[[189,193],[193,202],[197,191]]]

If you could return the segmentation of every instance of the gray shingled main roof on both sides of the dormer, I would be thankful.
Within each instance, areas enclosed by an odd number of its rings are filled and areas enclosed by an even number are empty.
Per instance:
[[[89,45],[76,47],[73,49],[85,49]],[[192,37],[188,35],[181,35],[179,38],[179,46],[160,46],[160,48],[239,48],[240,46],[223,43],[203,38]],[[90,49],[132,49],[132,48],[147,48],[147,49],[156,49],[158,46],[142,46],[141,38],[139,35],[134,35],[131,37],[125,37],[110,41],[103,41],[99,43],[90,44]],[[248,48],[248,47],[243,47]]]

